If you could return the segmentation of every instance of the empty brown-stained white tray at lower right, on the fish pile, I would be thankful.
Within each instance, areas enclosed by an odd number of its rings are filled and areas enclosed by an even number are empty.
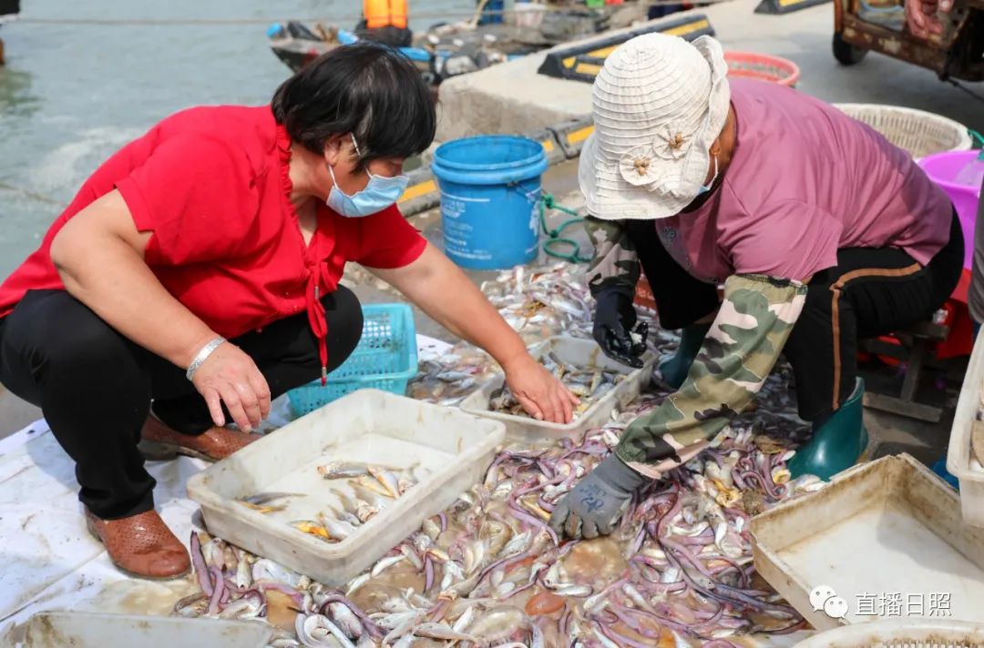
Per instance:
[[[845,470],[750,530],[756,569],[819,630],[877,619],[860,597],[894,592],[906,606],[910,595],[949,593],[952,619],[984,622],[984,529],[963,524],[953,489],[907,454]],[[844,619],[814,610],[821,585],[848,603]]]

